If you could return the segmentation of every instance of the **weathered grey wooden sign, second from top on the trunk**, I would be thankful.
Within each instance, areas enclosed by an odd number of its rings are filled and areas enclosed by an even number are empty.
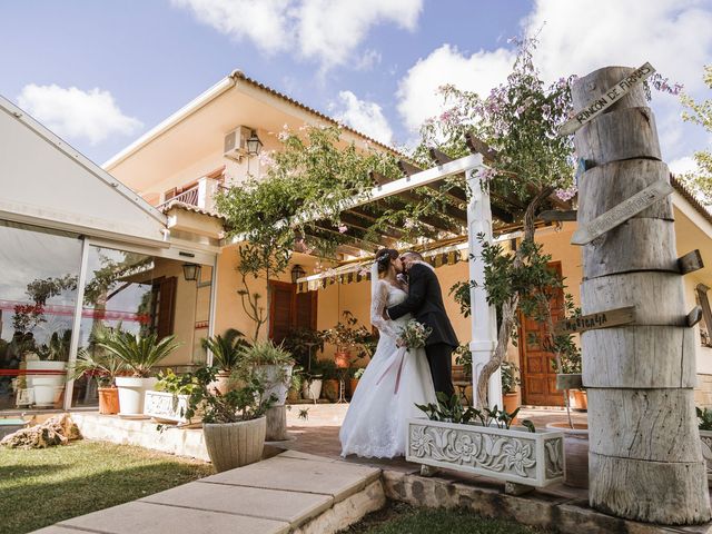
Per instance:
[[[623,200],[614,208],[611,208],[605,214],[600,215],[578,228],[571,238],[571,244],[586,245],[593,241],[596,237],[625,222],[661,198],[665,198],[672,191],[672,186],[666,181],[656,181],[652,186],[647,186],[627,200]]]

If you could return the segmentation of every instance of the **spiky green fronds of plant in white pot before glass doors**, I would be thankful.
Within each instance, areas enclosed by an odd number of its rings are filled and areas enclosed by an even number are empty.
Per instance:
[[[134,376],[147,377],[151,368],[181,345],[176,336],[158,339],[158,335],[115,330],[97,339],[97,346],[118,356]]]

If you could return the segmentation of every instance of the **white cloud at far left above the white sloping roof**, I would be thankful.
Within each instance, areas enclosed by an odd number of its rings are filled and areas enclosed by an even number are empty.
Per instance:
[[[22,88],[18,106],[55,134],[86,139],[98,145],[111,135],[130,136],[144,125],[121,112],[109,91],[82,91],[76,87],[37,86]]]

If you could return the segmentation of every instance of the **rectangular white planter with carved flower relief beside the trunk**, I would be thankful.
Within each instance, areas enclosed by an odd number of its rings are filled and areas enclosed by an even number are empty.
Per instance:
[[[412,418],[405,459],[544,487],[564,478],[564,435]]]

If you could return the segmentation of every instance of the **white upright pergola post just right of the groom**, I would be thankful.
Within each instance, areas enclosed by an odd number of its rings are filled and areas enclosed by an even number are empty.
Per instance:
[[[487,304],[487,293],[484,288],[485,265],[482,259],[482,245],[477,234],[484,234],[487,243],[492,243],[492,209],[490,206],[490,189],[486,182],[479,178],[482,168],[469,169],[465,172],[469,189],[469,202],[467,204],[467,237],[469,243],[469,279],[477,283],[469,288],[472,304],[472,379],[473,404],[477,406],[477,378],[482,367],[490,362],[497,343],[497,315],[494,306]],[[487,388],[490,407],[496,404],[502,408],[502,378],[501,370],[490,378]],[[481,407],[481,406],[477,406]]]

